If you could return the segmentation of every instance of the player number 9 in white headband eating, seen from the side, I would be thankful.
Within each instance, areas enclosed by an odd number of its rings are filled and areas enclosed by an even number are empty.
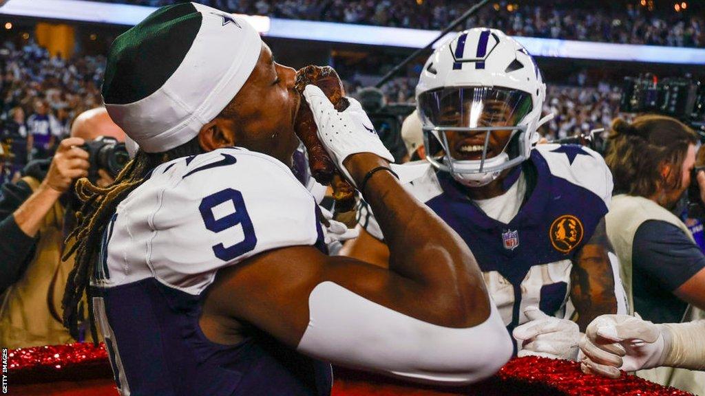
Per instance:
[[[64,318],[75,333],[87,292],[121,395],[324,396],[329,362],[461,384],[509,359],[465,242],[396,181],[357,101],[338,112],[308,86],[392,259],[321,252],[290,170],[294,78],[245,19],[201,4],[159,8],[112,45],[106,109],[140,149],[113,185],[80,182]]]

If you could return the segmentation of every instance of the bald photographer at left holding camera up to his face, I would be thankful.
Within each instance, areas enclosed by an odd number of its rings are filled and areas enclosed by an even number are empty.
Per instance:
[[[71,342],[61,299],[73,259],[61,261],[73,228],[73,185],[88,177],[105,187],[127,153],[125,134],[104,108],[81,113],[71,137],[51,159],[32,161],[0,199],[0,345],[9,348]],[[124,151],[124,152],[123,152]],[[117,158],[117,160],[116,160]],[[66,219],[66,220],[65,220]]]

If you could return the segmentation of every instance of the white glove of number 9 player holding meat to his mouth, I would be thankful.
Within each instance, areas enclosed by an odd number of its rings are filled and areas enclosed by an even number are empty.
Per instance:
[[[343,161],[348,156],[357,153],[372,153],[389,162],[394,162],[394,157],[379,140],[372,121],[362,110],[359,101],[346,97],[350,101],[350,106],[339,112],[333,107],[323,91],[315,85],[306,86],[304,97],[318,127],[319,140],[338,169],[353,185],[355,185],[353,178],[343,166]]]

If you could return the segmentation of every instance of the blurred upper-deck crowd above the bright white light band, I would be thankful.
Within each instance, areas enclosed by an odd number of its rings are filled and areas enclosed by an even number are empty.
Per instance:
[[[174,0],[102,0],[145,6],[163,6]],[[276,18],[326,20],[364,25],[442,29],[474,4],[468,0],[197,0],[237,13]],[[420,3],[420,4],[419,4]],[[497,1],[467,20],[466,27],[489,26],[509,35],[558,39],[651,44],[668,47],[705,47],[705,18],[675,13],[653,13],[627,5],[609,11],[599,5],[574,3],[527,6]]]

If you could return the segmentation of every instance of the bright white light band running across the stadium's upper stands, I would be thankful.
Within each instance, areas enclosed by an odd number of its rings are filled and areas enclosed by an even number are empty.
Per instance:
[[[648,0],[647,4],[652,4],[652,1]],[[7,4],[0,7],[0,14],[135,25],[155,9],[147,6],[81,0],[9,0]],[[245,18],[255,26],[257,31],[267,37],[319,42],[422,48],[439,34],[437,30],[290,20],[266,16],[245,16]],[[705,49],[582,42],[537,37],[515,37],[515,39],[535,56],[705,65]],[[443,41],[445,39],[440,42]]]

